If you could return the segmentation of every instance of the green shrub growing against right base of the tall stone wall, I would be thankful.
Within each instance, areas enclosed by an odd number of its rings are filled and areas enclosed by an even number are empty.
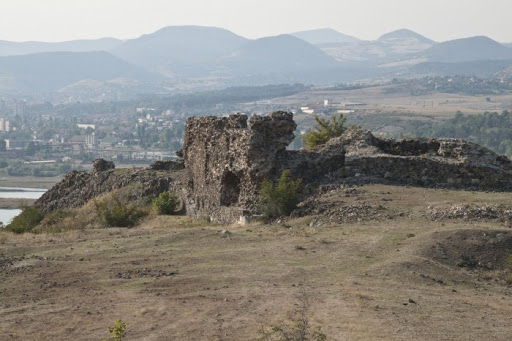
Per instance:
[[[277,185],[269,180],[261,183],[261,211],[265,218],[289,215],[299,203],[302,180],[290,179],[290,170],[281,173]]]

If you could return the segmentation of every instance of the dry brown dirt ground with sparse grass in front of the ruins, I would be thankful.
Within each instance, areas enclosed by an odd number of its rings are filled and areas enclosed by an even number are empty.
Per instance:
[[[512,229],[428,214],[510,199],[367,185],[325,189],[329,210],[272,225],[2,232],[0,340],[100,340],[116,319],[126,340],[257,340],[305,298],[327,340],[511,340]]]

